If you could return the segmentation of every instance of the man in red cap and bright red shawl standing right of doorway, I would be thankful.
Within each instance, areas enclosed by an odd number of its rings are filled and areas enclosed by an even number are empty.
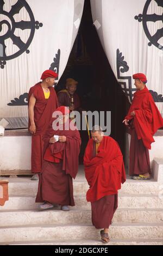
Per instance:
[[[151,175],[149,151],[154,142],[153,135],[163,127],[163,119],[153,97],[146,87],[144,74],[133,75],[137,88],[123,123],[129,126],[131,135],[129,150],[129,174],[131,179],[148,180]]]

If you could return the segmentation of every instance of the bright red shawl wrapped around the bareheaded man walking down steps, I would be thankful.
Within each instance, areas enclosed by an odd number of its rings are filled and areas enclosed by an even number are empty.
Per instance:
[[[90,139],[84,155],[85,177],[90,185],[86,193],[88,202],[117,194],[121,183],[126,181],[123,156],[117,142],[111,137],[104,136],[95,157],[93,143],[93,139]]]

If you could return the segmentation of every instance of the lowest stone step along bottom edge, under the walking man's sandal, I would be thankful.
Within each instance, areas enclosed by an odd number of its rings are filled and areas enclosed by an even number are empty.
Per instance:
[[[1,243],[0,243],[1,245]],[[41,242],[41,241],[19,241],[15,243],[11,243],[11,245],[101,245],[101,246],[109,246],[109,245],[163,245],[162,239],[158,240],[147,240],[147,239],[139,239],[139,240],[119,240],[119,239],[111,239],[109,243],[102,243],[100,240],[68,240],[68,241],[47,241],[47,242]]]

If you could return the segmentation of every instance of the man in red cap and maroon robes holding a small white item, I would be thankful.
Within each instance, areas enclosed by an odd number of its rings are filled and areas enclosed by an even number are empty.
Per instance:
[[[61,205],[61,210],[68,211],[68,205],[74,206],[72,178],[75,179],[78,172],[81,141],[69,113],[67,107],[58,107],[53,128],[50,125],[43,138],[45,154],[36,196],[36,202],[44,202],[41,210]]]

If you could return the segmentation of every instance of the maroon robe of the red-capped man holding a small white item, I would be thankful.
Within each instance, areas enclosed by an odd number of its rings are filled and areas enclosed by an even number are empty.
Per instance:
[[[68,120],[68,125],[70,120]],[[66,142],[49,143],[49,139],[54,136],[66,136]],[[53,156],[58,156],[62,152],[60,163],[44,160],[39,177],[39,187],[36,202],[47,201],[52,204],[74,206],[72,178],[76,178],[78,172],[78,156],[80,151],[80,135],[76,129],[54,131],[52,126],[44,136],[45,153],[51,151]]]

